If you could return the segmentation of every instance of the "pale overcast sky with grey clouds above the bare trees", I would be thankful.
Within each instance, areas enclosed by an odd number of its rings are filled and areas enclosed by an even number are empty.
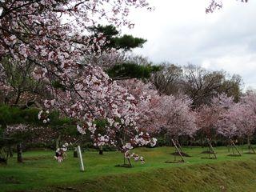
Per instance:
[[[152,12],[134,10],[133,30],[146,38],[142,54],[153,62],[188,62],[210,70],[240,74],[246,88],[256,89],[256,1],[224,0],[222,10],[206,14],[207,0],[148,0]]]

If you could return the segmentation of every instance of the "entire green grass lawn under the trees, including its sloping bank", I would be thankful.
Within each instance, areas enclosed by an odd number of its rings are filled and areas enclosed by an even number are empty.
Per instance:
[[[226,147],[218,147],[214,160],[202,158],[206,148],[183,150],[191,156],[186,163],[165,163],[174,160],[174,148],[138,148],[146,163],[134,162],[133,168],[115,167],[122,164],[120,152],[86,151],[85,172],[72,151],[62,163],[53,151],[29,151],[22,164],[14,157],[0,165],[0,191],[256,191],[255,154],[230,157]]]

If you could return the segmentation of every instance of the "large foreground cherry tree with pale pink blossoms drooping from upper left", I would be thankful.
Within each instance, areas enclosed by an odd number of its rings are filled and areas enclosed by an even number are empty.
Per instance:
[[[30,62],[50,93],[46,109],[76,118],[78,131],[90,134],[95,146],[117,146],[127,157],[135,145],[154,143],[136,126],[136,101],[100,67],[79,61],[105,43],[102,34],[86,36],[86,27],[98,18],[133,26],[126,20],[130,6],[150,9],[144,0],[0,2],[0,58]],[[97,129],[98,119],[107,120],[104,130]]]

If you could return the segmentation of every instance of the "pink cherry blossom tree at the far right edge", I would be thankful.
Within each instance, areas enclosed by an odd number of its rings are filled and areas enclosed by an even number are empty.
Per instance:
[[[255,132],[256,97],[253,92],[242,97],[241,102],[234,103],[232,98],[222,97],[222,102],[213,102],[218,107],[219,117],[215,126],[218,133],[226,138],[246,137],[251,149],[250,139]]]

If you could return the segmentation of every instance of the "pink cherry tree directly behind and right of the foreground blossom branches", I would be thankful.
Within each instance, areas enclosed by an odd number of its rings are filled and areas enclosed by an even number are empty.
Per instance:
[[[152,133],[164,130],[174,139],[182,135],[192,137],[196,132],[196,116],[191,110],[190,98],[184,95],[160,95],[150,83],[134,79],[122,83],[138,99],[138,126],[146,127]]]

